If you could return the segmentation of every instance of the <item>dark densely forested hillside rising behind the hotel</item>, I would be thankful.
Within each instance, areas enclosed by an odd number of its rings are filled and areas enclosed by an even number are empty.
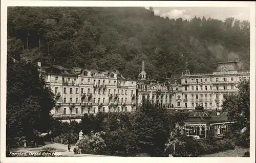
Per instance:
[[[249,22],[234,18],[183,20],[142,7],[8,8],[8,56],[42,65],[118,69],[137,77],[141,60],[151,77],[212,71],[216,62],[249,68]],[[187,64],[186,64],[187,63]]]

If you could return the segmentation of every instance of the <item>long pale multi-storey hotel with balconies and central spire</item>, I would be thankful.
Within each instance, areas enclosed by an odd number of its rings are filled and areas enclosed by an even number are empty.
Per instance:
[[[164,82],[146,76],[144,61],[138,80],[127,80],[118,71],[99,72],[89,68],[40,65],[41,75],[55,93],[55,118],[80,119],[84,113],[133,111],[142,99],[150,99],[168,109],[188,109],[200,104],[205,109],[221,109],[226,93],[237,92],[242,71],[237,62],[219,63],[214,72],[172,75]]]

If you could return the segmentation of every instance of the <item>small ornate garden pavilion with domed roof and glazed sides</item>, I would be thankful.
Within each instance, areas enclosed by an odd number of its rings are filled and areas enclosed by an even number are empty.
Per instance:
[[[222,137],[223,132],[227,129],[230,122],[228,121],[227,113],[212,112],[209,114],[204,111],[204,108],[198,105],[194,111],[192,111],[188,119],[184,121],[184,130],[186,135],[193,136],[195,138],[204,138],[210,131],[214,133],[216,137]]]

